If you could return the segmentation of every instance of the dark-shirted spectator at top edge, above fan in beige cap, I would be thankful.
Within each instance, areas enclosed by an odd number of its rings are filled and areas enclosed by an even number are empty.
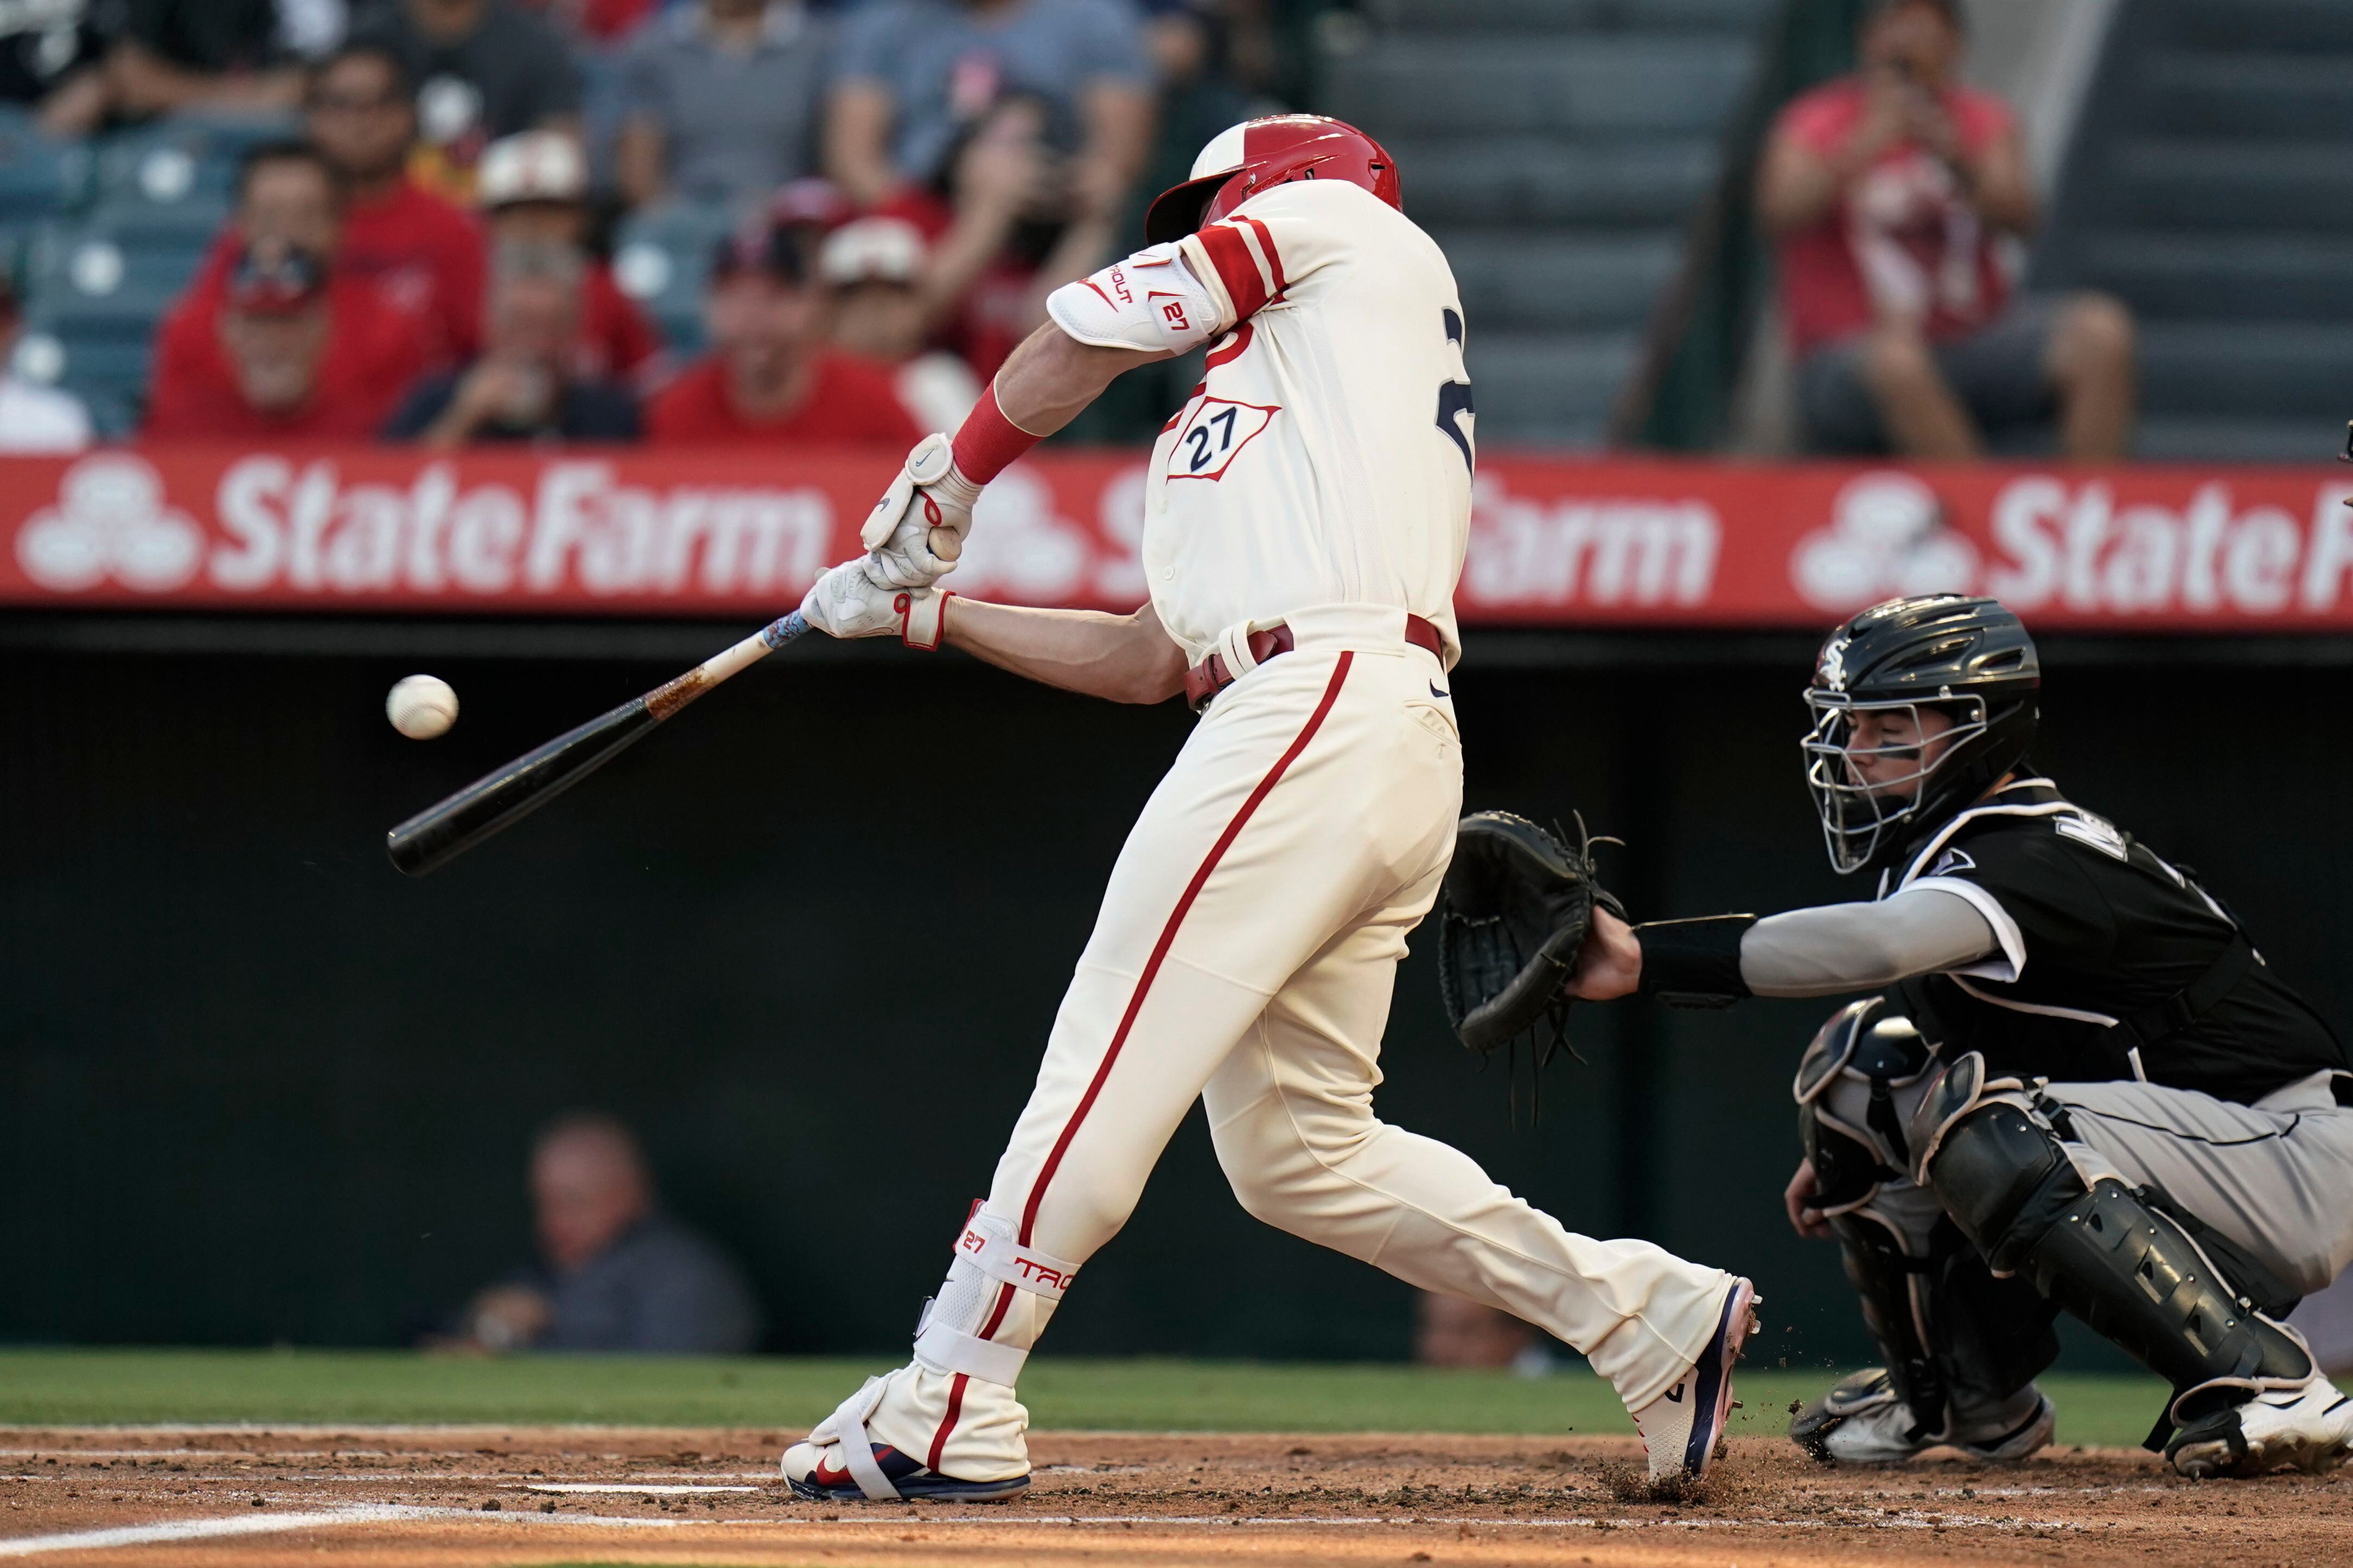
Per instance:
[[[355,42],[381,42],[416,82],[416,174],[454,197],[499,136],[579,132],[581,80],[562,38],[513,0],[376,0]]]

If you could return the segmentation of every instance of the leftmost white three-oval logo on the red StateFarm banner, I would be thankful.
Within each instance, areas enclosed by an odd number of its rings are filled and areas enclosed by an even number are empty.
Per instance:
[[[16,531],[16,564],[56,592],[82,592],[106,578],[169,592],[195,576],[202,557],[205,531],[165,503],[155,468],[118,451],[68,468],[56,505],[40,508]]]

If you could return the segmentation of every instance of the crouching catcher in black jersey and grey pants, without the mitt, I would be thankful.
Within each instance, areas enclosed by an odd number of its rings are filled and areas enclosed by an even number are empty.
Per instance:
[[[2172,1382],[2151,1446],[2181,1474],[2341,1465],[2353,1401],[2280,1319],[2353,1260],[2346,1051],[2193,870],[2033,769],[2040,684],[1993,599],[1854,616],[1805,691],[1805,778],[1875,900],[1598,910],[1567,992],[1878,992],[1795,1081],[1788,1215],[1838,1237],[1887,1361],[1795,1418],[1817,1455],[2042,1448],[2064,1309]]]

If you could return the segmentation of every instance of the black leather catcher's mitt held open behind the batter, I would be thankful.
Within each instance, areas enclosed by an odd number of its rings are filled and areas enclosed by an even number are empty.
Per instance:
[[[1574,846],[1511,811],[1475,811],[1454,830],[1438,990],[1447,1023],[1473,1051],[1506,1046],[1539,1023],[1553,1027],[1546,1056],[1567,1044],[1560,987],[1586,945],[1593,905],[1626,919],[1626,905],[1593,875],[1595,844],[1617,839],[1595,839],[1584,818]]]

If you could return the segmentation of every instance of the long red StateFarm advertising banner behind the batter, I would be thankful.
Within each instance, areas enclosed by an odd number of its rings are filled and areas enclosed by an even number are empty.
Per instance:
[[[0,461],[0,604],[772,616],[856,550],[892,456],[106,449]],[[955,588],[1144,599],[1144,454],[1016,463]],[[2353,630],[2329,468],[1487,456],[1471,625],[1817,628],[1993,592],[2038,628]]]

